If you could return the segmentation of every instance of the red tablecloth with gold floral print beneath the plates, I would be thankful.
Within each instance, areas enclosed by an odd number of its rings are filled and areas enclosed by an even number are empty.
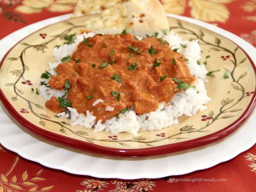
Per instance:
[[[28,24],[70,13],[77,0],[0,0],[0,39]],[[256,46],[256,0],[160,0],[167,13],[203,20]],[[0,45],[1,46],[1,45]],[[189,163],[189,159],[188,159]],[[255,191],[256,145],[215,167],[161,179],[72,175],[28,161],[0,145],[0,192]]]

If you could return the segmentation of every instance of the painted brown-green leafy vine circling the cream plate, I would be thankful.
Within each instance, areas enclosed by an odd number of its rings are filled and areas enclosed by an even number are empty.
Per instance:
[[[194,38],[190,38],[190,40],[198,39],[199,44],[208,45],[210,50],[213,50],[216,52],[226,52],[228,54],[228,57],[225,57],[225,59],[233,64],[233,68],[231,68],[231,69],[224,68],[224,69],[226,72],[228,72],[228,74],[230,74],[230,76],[232,78],[232,83],[230,84],[230,86],[238,92],[237,94],[240,94],[240,98],[238,100],[235,100],[235,99],[232,99],[229,97],[223,98],[223,100],[220,101],[219,111],[215,112],[216,115],[214,114],[213,111],[210,111],[208,113],[208,115],[204,115],[204,117],[207,117],[207,118],[201,119],[201,121],[205,121],[205,123],[206,123],[204,126],[202,126],[201,128],[195,128],[194,125],[186,125],[186,126],[181,127],[180,132],[178,132],[176,134],[172,134],[172,135],[166,135],[165,133],[156,134],[156,137],[154,140],[147,140],[147,138],[145,138],[143,136],[133,137],[132,139],[128,139],[128,140],[119,140],[117,138],[117,136],[108,136],[106,139],[93,139],[89,136],[88,132],[73,131],[71,128],[68,127],[71,125],[67,122],[54,121],[48,115],[38,114],[33,110],[33,107],[37,107],[40,109],[44,109],[44,107],[41,106],[40,104],[37,104],[37,103],[30,101],[30,100],[26,99],[25,97],[23,97],[24,92],[18,88],[18,82],[20,79],[23,79],[23,82],[28,82],[28,80],[26,80],[24,78],[24,75],[25,75],[26,71],[29,71],[29,67],[25,64],[23,57],[25,56],[26,50],[28,50],[30,48],[34,48],[34,49],[36,49],[36,51],[44,52],[44,49],[47,48],[47,45],[49,43],[51,43],[52,41],[54,41],[55,39],[63,38],[64,36],[68,35],[68,33],[74,28],[83,27],[83,26],[75,25],[70,21],[64,21],[64,22],[66,22],[66,24],[69,26],[69,28],[64,30],[62,33],[55,35],[55,36],[46,36],[46,37],[49,37],[52,39],[48,40],[42,44],[30,45],[30,44],[22,42],[21,44],[24,45],[25,48],[22,50],[20,55],[15,58],[13,58],[13,57],[8,58],[8,60],[11,60],[11,61],[19,59],[22,64],[21,69],[10,71],[10,73],[12,73],[12,75],[15,75],[18,77],[18,79],[14,83],[6,84],[6,86],[12,86],[14,93],[16,94],[16,96],[12,97],[11,99],[12,99],[12,101],[16,101],[16,100],[18,100],[18,97],[20,97],[21,99],[25,100],[28,104],[28,109],[26,109],[26,111],[30,110],[32,114],[34,114],[36,117],[38,117],[40,119],[39,124],[41,124],[42,126],[45,126],[47,121],[55,123],[60,126],[60,132],[65,133],[66,131],[70,131],[70,132],[72,132],[72,134],[75,134],[90,143],[94,143],[93,141],[115,142],[121,146],[130,147],[130,145],[128,143],[138,142],[138,143],[142,143],[148,147],[153,147],[154,143],[162,141],[162,140],[166,140],[166,139],[174,139],[174,140],[189,139],[188,137],[183,136],[184,133],[187,135],[187,133],[193,133],[193,132],[209,132],[209,130],[206,130],[206,128],[209,127],[211,124],[213,124],[215,121],[220,120],[220,119],[232,118],[235,116],[234,115],[235,112],[242,110],[241,108],[234,108],[234,107],[241,100],[243,100],[245,97],[248,96],[248,94],[247,94],[248,92],[245,92],[244,86],[239,82],[242,78],[244,78],[247,75],[247,72],[246,71],[243,72],[238,77],[236,77],[234,75],[234,72],[235,72],[236,68],[239,65],[243,64],[247,58],[245,57],[242,60],[237,61],[236,52],[239,49],[239,47],[236,47],[234,50],[229,50],[228,48],[221,46],[221,40],[217,37],[215,37],[214,42],[208,42],[204,39],[204,32],[201,29],[199,29],[199,31],[196,33],[195,31],[184,27],[183,24],[181,23],[181,21],[177,20],[178,26],[173,26],[173,27],[171,26],[170,30],[180,29],[182,31],[178,31],[178,33],[190,34],[194,37]],[[29,82],[29,83],[31,83],[31,82]],[[251,92],[251,93],[253,93],[253,92]],[[22,110],[22,111],[24,111],[24,110]]]

